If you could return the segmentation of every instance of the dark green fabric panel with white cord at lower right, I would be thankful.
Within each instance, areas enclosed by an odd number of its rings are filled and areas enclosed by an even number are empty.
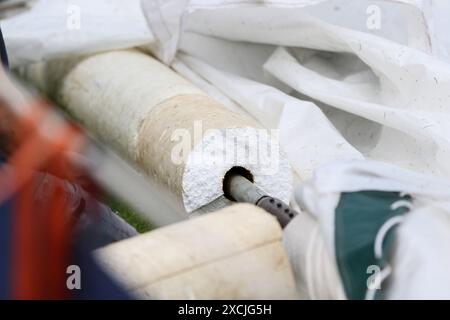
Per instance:
[[[341,194],[335,212],[335,250],[348,299],[365,299],[372,272],[387,267],[396,226],[387,231],[382,242],[382,256],[378,258],[375,240],[387,221],[409,211],[402,203],[397,208],[394,204],[398,201],[410,202],[411,197],[380,191]],[[376,291],[375,298],[382,298],[381,290]]]

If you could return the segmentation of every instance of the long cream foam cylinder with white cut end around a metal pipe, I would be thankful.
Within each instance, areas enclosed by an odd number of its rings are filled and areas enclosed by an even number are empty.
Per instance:
[[[27,67],[23,75],[165,183],[187,212],[228,205],[223,178],[235,166],[249,170],[255,183],[271,195],[289,200],[291,169],[270,145],[270,134],[142,52],[41,63]],[[269,157],[264,153],[268,145],[275,150]]]

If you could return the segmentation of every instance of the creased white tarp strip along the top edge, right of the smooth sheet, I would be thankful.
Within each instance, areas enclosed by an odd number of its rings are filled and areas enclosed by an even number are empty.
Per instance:
[[[299,21],[301,19],[298,14],[380,36],[427,53],[434,52],[432,46],[434,34],[431,25],[436,15],[436,10],[433,11],[435,6],[421,0],[142,0],[142,2],[159,43],[155,50],[156,54],[167,63],[175,54],[177,42],[188,32],[238,40],[242,30],[246,30],[249,24],[259,22],[271,26],[273,32],[277,32],[280,31],[278,27],[281,27],[279,23],[283,23],[280,18],[290,17],[291,21],[292,19]],[[246,14],[248,11],[254,15],[249,20]],[[291,27],[295,27],[295,23]],[[270,39],[266,39],[263,43],[277,44]]]

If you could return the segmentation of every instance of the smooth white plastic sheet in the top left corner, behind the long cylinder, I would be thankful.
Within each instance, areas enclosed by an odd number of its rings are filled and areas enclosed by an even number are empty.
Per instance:
[[[1,26],[12,65],[154,40],[139,0],[37,0]]]

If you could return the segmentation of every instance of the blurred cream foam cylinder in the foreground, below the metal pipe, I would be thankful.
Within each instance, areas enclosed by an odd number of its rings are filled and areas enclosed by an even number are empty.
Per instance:
[[[95,252],[142,299],[294,299],[294,277],[274,217],[239,204]]]

